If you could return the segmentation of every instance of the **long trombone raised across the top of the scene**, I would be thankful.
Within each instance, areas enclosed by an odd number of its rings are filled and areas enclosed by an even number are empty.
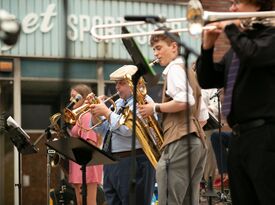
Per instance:
[[[203,30],[214,30],[217,27],[213,25],[205,24],[224,21],[224,20],[233,20],[233,19],[250,19],[253,21],[255,18],[261,18],[262,20],[270,18],[275,18],[275,11],[261,11],[261,12],[211,12],[204,11],[202,5],[198,0],[191,0],[188,4],[187,15],[183,18],[171,18],[166,19],[164,23],[174,23],[174,22],[183,22],[188,23],[187,28],[177,28],[171,30],[158,30],[158,31],[146,31],[146,32],[136,32],[136,33],[125,33],[125,34],[103,34],[100,35],[97,33],[99,29],[108,29],[108,28],[121,28],[123,26],[140,26],[145,25],[148,22],[146,21],[136,21],[136,22],[123,22],[116,24],[101,24],[93,26],[91,29],[91,35],[98,40],[108,40],[108,39],[118,39],[118,38],[129,38],[137,36],[147,36],[147,35],[157,35],[169,33],[179,33],[179,32],[190,32],[192,35],[200,34]]]

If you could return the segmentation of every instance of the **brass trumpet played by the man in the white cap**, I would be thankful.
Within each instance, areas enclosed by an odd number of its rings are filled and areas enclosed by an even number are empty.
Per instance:
[[[82,106],[80,106],[74,110],[70,110],[68,108],[64,109],[64,121],[66,123],[75,125],[79,121],[79,119],[81,118],[82,115],[84,115],[85,113],[90,111],[91,104],[99,104],[100,103],[99,99],[95,96],[94,93],[90,93],[89,95],[93,96],[93,98],[90,100],[90,103],[85,103]],[[114,95],[112,95],[111,97],[108,97],[107,99],[105,99],[104,103],[107,103],[110,101],[111,104],[113,105],[113,108],[116,109],[116,105],[115,105],[115,102],[113,101],[113,98],[115,98],[117,95],[119,95],[119,92],[117,92]],[[99,124],[97,124],[97,126],[98,125]],[[89,130],[91,130],[93,128],[94,128],[94,126],[91,127]]]

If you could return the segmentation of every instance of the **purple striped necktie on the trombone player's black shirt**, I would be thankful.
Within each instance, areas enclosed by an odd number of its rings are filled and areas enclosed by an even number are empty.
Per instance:
[[[232,93],[233,93],[234,84],[236,82],[239,67],[240,67],[240,60],[237,57],[236,53],[233,53],[232,62],[229,68],[228,76],[227,76],[226,90],[225,90],[223,107],[222,107],[223,115],[225,117],[228,116],[231,110]]]

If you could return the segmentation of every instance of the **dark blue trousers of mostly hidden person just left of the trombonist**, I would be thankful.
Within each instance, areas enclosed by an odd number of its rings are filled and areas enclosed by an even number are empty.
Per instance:
[[[231,132],[221,132],[220,135],[219,132],[215,131],[211,135],[211,144],[215,153],[220,174],[227,173],[228,147],[231,137]]]

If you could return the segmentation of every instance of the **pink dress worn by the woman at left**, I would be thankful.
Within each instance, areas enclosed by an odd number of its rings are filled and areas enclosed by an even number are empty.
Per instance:
[[[85,140],[90,140],[94,145],[98,145],[97,134],[93,130],[85,130],[89,129],[91,122],[91,113],[86,113],[80,118],[80,122],[78,121],[76,125],[71,129],[72,137],[81,137]],[[81,123],[81,125],[79,125]],[[84,129],[83,129],[83,128]],[[80,170],[81,166],[76,164],[73,161],[69,161],[69,182],[73,184],[82,184],[82,171]],[[87,166],[86,167],[86,182],[87,183],[102,183],[102,172],[103,166]]]

